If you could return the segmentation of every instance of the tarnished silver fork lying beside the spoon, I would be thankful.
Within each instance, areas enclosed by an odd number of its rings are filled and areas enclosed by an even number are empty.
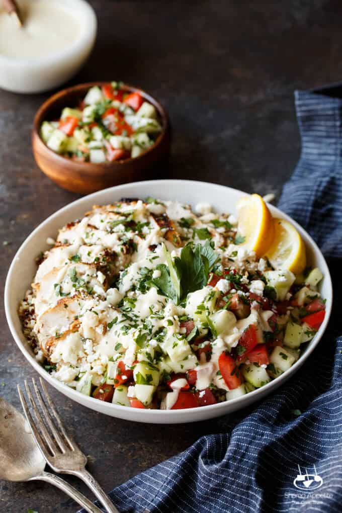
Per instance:
[[[33,398],[33,394],[27,380],[25,380],[25,388],[36,417],[36,422],[31,416],[20,386],[17,385],[17,387],[27,421],[45,460],[55,472],[71,474],[82,479],[82,481],[84,481],[92,490],[97,499],[103,504],[108,513],[119,513],[109,497],[106,495],[105,491],[100,487],[97,481],[95,481],[91,473],[86,470],[86,456],[82,450],[79,449],[76,442],[67,434],[61,417],[59,417],[56,408],[54,407],[42,378],[39,378],[39,381],[43,389],[43,395],[37,387],[35,379],[32,378],[33,388],[36,393],[38,403],[41,406],[43,417],[39,411],[36,401]],[[50,411],[53,413],[53,417],[50,414],[46,402],[49,405]]]

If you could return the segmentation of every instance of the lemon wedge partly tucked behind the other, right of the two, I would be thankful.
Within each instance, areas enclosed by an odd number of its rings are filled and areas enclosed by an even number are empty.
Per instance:
[[[266,257],[275,269],[288,269],[299,274],[306,266],[303,239],[295,227],[284,219],[273,219],[274,239]]]

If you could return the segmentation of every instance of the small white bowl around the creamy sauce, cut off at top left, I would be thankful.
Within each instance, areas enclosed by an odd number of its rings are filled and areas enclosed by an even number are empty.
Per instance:
[[[76,14],[81,25],[81,34],[68,49],[49,57],[14,59],[0,54],[1,88],[16,93],[48,91],[67,82],[88,58],[94,46],[97,29],[93,8],[85,0],[46,1],[56,3],[73,15]]]

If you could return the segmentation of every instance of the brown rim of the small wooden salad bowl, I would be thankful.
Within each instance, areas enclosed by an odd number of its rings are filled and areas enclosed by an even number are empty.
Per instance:
[[[132,163],[135,163],[135,162],[139,161],[140,159],[144,159],[144,157],[146,157],[147,154],[150,154],[153,151],[155,151],[157,149],[157,147],[163,143],[166,135],[169,132],[170,123],[169,123],[168,114],[167,114],[166,110],[164,109],[164,107],[162,106],[162,104],[160,104],[149,93],[144,91],[144,89],[140,89],[139,87],[134,87],[129,84],[126,84],[125,82],[122,82],[120,89],[125,89],[127,91],[132,91],[132,92],[138,91],[139,93],[142,93],[142,95],[146,98],[146,100],[149,101],[150,103],[152,103],[157,108],[158,114],[159,114],[160,118],[162,119],[162,132],[159,134],[157,140],[154,142],[154,144],[150,148],[148,148],[146,151],[144,151],[141,155],[134,157],[134,159],[132,159],[132,157],[130,157],[129,159],[118,160],[118,161],[113,161],[113,162],[101,162],[101,163],[97,164],[94,162],[73,161],[73,160],[69,159],[69,157],[65,157],[63,155],[59,155],[58,153],[54,152],[45,144],[45,142],[43,141],[41,134],[40,134],[40,127],[44,121],[43,118],[44,118],[46,112],[52,108],[53,104],[56,101],[60,100],[63,97],[66,98],[69,94],[73,93],[74,91],[81,92],[84,89],[88,90],[94,86],[102,87],[106,84],[110,84],[110,82],[108,82],[108,81],[86,82],[83,84],[77,84],[75,86],[67,87],[67,88],[62,89],[61,91],[58,91],[57,93],[49,96],[49,98],[47,98],[47,100],[41,105],[41,107],[39,107],[39,109],[37,110],[37,112],[34,116],[34,120],[33,120],[32,137],[35,137],[38,140],[39,144],[41,144],[44,147],[44,151],[46,151],[48,153],[48,155],[50,156],[51,159],[55,160],[57,163],[60,163],[61,165],[63,164],[63,165],[70,166],[71,169],[77,168],[78,171],[83,170],[83,171],[89,172],[90,168],[92,170],[94,170],[95,167],[98,167],[98,169],[100,169],[100,168],[103,168],[103,166],[108,167],[108,170],[110,170],[110,168],[118,169],[120,167],[126,167],[129,165],[132,165]],[[34,148],[33,148],[33,151],[35,151]]]

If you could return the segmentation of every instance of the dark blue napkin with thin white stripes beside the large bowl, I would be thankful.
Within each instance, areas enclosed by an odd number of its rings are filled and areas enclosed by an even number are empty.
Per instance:
[[[302,152],[279,202],[330,257],[335,284],[341,283],[337,259],[342,256],[339,95],[338,86],[295,93]],[[335,305],[341,299],[336,289]],[[227,416],[224,433],[200,438],[115,488],[110,495],[118,509],[342,511],[342,337],[336,328],[330,322],[312,356],[280,391]],[[307,485],[301,477],[306,473]]]

